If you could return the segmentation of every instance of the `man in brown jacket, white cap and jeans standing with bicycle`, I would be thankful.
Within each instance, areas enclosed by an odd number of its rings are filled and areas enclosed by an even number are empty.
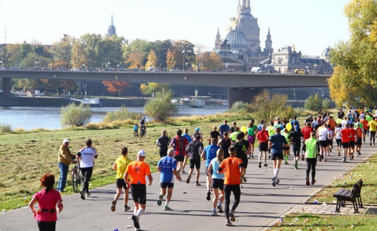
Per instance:
[[[59,181],[58,181],[58,187],[57,190],[61,193],[64,193],[64,189],[66,188],[66,182],[67,182],[67,174],[68,174],[68,168],[71,163],[77,163],[75,159],[75,155],[71,154],[70,149],[68,148],[70,144],[69,139],[63,140],[63,145],[59,148],[58,153],[58,166],[60,171]]]

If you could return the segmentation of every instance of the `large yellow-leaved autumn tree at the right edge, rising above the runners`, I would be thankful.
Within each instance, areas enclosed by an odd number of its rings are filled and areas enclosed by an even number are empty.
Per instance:
[[[352,0],[344,14],[350,39],[330,52],[331,63],[339,66],[329,80],[330,95],[338,106],[360,101],[371,107],[377,104],[377,1]],[[336,80],[340,87],[334,86]]]

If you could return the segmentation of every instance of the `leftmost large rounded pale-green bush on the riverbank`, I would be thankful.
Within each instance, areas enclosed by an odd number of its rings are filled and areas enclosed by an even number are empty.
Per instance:
[[[63,127],[66,126],[83,126],[87,124],[91,119],[91,110],[89,105],[83,104],[75,105],[71,103],[67,106],[63,106],[60,110],[60,123]]]

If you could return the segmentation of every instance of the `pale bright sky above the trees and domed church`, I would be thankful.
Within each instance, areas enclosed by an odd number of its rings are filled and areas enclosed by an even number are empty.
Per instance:
[[[318,56],[339,40],[348,40],[343,6],[349,0],[251,0],[258,18],[261,47],[268,28],[272,46],[295,45],[304,55]],[[52,44],[69,34],[105,35],[113,14],[118,36],[149,41],[186,39],[214,47],[217,29],[221,37],[238,0],[0,0],[0,43],[37,40]]]

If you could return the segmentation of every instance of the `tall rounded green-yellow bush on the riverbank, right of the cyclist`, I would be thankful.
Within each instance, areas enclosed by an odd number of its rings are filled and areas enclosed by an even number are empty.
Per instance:
[[[166,123],[178,111],[177,107],[171,103],[171,98],[171,91],[157,92],[156,96],[145,104],[145,113],[157,122]]]

